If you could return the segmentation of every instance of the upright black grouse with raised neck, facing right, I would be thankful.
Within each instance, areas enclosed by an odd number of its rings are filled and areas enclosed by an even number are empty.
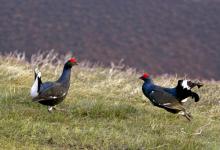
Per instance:
[[[35,69],[35,81],[31,88],[33,101],[47,105],[48,111],[51,112],[66,97],[70,86],[71,68],[76,64],[75,58],[68,60],[64,65],[62,75],[55,82],[42,83],[41,72]]]

